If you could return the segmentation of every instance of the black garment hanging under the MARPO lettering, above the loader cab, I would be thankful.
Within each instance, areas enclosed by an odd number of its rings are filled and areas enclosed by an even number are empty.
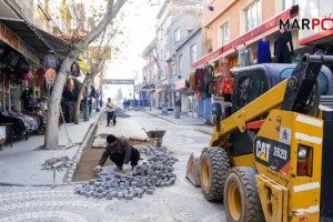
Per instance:
[[[290,44],[290,49],[287,47]],[[278,32],[274,41],[274,54],[278,63],[291,63],[291,54],[294,53],[292,36],[290,31]]]

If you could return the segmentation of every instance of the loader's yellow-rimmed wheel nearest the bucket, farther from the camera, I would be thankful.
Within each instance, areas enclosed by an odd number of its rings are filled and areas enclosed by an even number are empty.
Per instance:
[[[201,188],[209,201],[223,201],[223,188],[230,161],[223,148],[204,148],[200,157]]]

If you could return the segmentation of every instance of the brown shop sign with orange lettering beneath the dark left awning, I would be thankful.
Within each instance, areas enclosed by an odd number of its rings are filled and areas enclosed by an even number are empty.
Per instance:
[[[29,58],[36,64],[39,64],[38,52],[21,40],[14,32],[0,23],[0,39],[8,46],[18,50],[24,57]]]

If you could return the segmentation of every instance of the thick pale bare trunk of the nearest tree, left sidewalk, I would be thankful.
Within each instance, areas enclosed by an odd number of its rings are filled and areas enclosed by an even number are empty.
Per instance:
[[[74,57],[75,58],[75,57]],[[58,77],[48,102],[48,120],[46,125],[47,132],[44,138],[44,149],[47,150],[56,150],[59,149],[58,143],[58,127],[59,127],[59,109],[62,97],[62,91],[64,83],[67,81],[67,68],[69,68],[73,62],[73,59],[69,57],[62,62],[61,68],[58,72]]]

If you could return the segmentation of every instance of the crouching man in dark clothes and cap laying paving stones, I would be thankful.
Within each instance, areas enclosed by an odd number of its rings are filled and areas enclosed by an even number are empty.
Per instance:
[[[127,173],[130,170],[130,162],[132,169],[138,165],[140,152],[130,145],[130,142],[127,139],[109,134],[107,137],[105,151],[103,152],[99,164],[93,170],[100,171],[109,157],[117,165],[115,171]]]

